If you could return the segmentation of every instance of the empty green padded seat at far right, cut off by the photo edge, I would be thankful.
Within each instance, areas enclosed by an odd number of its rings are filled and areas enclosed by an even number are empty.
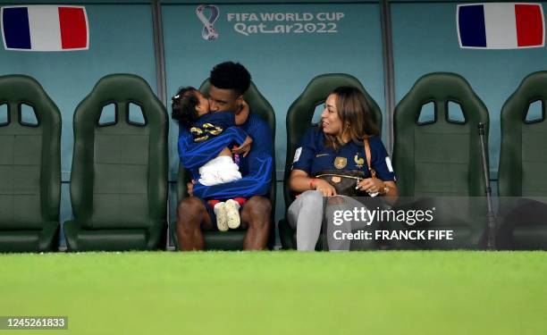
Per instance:
[[[547,71],[538,71],[522,80],[501,108],[497,241],[502,249],[547,249],[546,100]],[[538,101],[541,116],[527,117]]]

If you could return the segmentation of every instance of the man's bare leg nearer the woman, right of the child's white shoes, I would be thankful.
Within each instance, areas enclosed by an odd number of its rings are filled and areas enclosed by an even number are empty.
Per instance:
[[[243,239],[244,250],[263,250],[268,243],[272,224],[272,205],[266,197],[250,197],[241,211],[242,226],[248,226]]]

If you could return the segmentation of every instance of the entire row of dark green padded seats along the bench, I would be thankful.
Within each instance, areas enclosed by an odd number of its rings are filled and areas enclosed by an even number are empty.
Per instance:
[[[204,82],[201,89],[206,89]],[[358,87],[382,124],[382,113],[361,83],[347,74],[325,74],[311,80],[287,113],[287,164],[284,199],[293,200],[288,188],[290,162],[304,131],[312,125],[317,105],[333,88]],[[540,154],[544,129],[547,72],[523,80],[501,112],[501,162],[499,194],[503,197],[539,197],[547,193],[541,172],[547,155]],[[253,113],[274,130],[272,106],[253,84],[245,96]],[[526,121],[528,106],[543,103],[543,117]],[[432,117],[424,119],[424,106],[433,103]],[[453,118],[448,105],[459,105],[462,118]],[[55,248],[59,232],[61,116],[54,102],[27,76],[0,77],[0,106],[8,105],[7,122],[0,124],[0,251],[47,251]],[[32,106],[36,124],[22,121],[21,104]],[[105,105],[115,105],[115,120],[101,122]],[[144,121],[130,120],[129,105],[139,105]],[[393,164],[401,197],[476,197],[466,210],[452,206],[428,230],[454,228],[450,242],[392,243],[394,248],[479,248],[486,232],[478,123],[488,136],[486,107],[465,79],[454,73],[432,73],[417,80],[394,113]],[[167,205],[167,131],[164,106],[145,80],[130,74],[114,74],[99,80],[78,105],[73,119],[71,200],[74,219],[63,224],[69,250],[149,250],[164,247]],[[381,128],[381,127],[380,127]],[[273,131],[274,133],[274,131]],[[487,142],[486,142],[487,143]],[[530,159],[534,155],[534,159]],[[273,180],[275,178],[273,172]],[[177,200],[186,197],[188,172],[179,170]],[[275,205],[275,183],[270,194]],[[434,202],[434,200],[433,200]],[[426,203],[426,204],[425,204]],[[426,201],[420,205],[432,205]],[[507,205],[499,221],[499,246],[547,248],[547,218],[543,204],[534,217],[522,222]],[[408,204],[407,204],[408,205]],[[411,204],[412,205],[412,204]],[[416,203],[414,204],[416,205]],[[434,204],[433,204],[434,205]],[[522,205],[522,204],[521,204]],[[530,213],[529,208],[527,213]],[[274,213],[274,211],[273,211]],[[272,215],[273,215],[272,213]],[[515,222],[518,218],[519,222]],[[272,216],[273,219],[273,216]],[[177,245],[175,225],[170,233]],[[274,225],[273,225],[274,226]],[[408,229],[396,224],[391,230]],[[282,247],[295,247],[295,232],[286,220],[279,222]],[[240,249],[243,230],[206,232],[206,247]],[[273,247],[274,228],[269,246]],[[322,240],[322,239],[320,239]],[[318,247],[322,247],[321,243]]]

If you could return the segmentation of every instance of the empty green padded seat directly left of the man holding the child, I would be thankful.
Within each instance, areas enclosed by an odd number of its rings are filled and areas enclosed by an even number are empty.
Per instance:
[[[115,121],[99,122],[115,105]],[[144,123],[130,118],[139,106]],[[74,113],[71,199],[74,219],[63,230],[69,250],[164,247],[167,208],[164,105],[132,74],[105,76]]]

